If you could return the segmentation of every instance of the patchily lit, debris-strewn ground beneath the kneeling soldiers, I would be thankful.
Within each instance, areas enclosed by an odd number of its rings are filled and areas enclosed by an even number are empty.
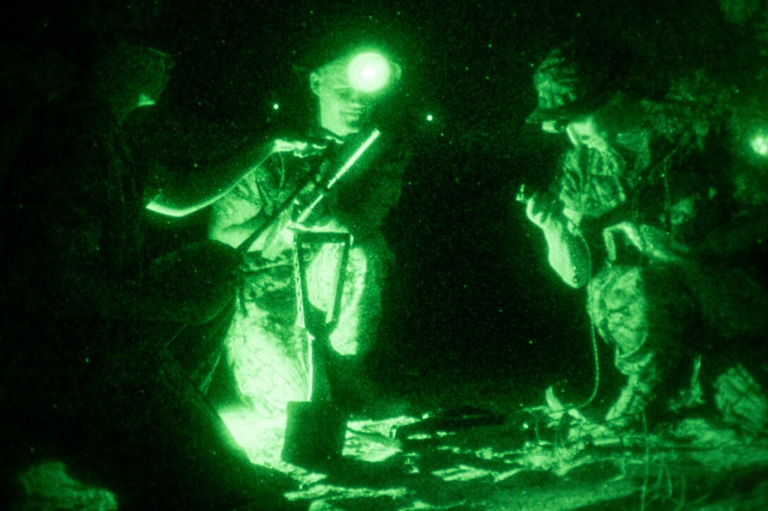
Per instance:
[[[463,407],[347,423],[343,457],[306,470],[280,460],[285,424],[220,410],[254,463],[288,473],[319,509],[768,509],[768,438],[688,417],[621,434],[543,408]],[[354,417],[353,417],[354,419]],[[25,473],[23,509],[118,509],[61,463]]]

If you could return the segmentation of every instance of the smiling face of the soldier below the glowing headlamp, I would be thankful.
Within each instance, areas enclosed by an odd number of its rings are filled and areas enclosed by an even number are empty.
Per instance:
[[[373,98],[349,83],[346,64],[346,60],[335,61],[310,75],[320,125],[342,138],[359,132],[373,107]]]

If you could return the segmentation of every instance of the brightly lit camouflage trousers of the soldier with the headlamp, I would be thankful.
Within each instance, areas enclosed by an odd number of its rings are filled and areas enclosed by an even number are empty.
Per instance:
[[[327,275],[336,256],[326,246],[308,266],[313,303],[333,292]],[[354,246],[349,252],[339,323],[330,335],[339,354],[359,357],[372,344],[381,311],[380,266],[374,249]],[[297,317],[290,252],[251,273],[239,302],[227,335],[227,360],[243,397],[263,417],[280,417],[289,401],[305,401],[309,389],[307,337]]]

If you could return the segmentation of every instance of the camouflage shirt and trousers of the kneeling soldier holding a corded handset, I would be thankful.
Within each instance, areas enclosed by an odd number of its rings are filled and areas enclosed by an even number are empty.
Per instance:
[[[591,240],[593,264],[604,255],[602,240],[595,235],[624,218],[637,218],[632,211],[637,187],[648,179],[647,134],[638,131],[624,138],[639,143],[634,147],[617,144],[607,153],[584,147],[569,150],[552,190],[563,207],[583,215],[579,228]],[[660,229],[647,224],[642,224],[641,232],[664,237]],[[627,376],[624,393],[631,389],[633,401],[626,409],[622,402],[622,410],[609,412],[609,419],[620,411],[641,410],[650,401],[663,374],[674,368],[684,352],[679,339],[693,308],[690,292],[668,262],[654,262],[651,256],[646,262],[654,264],[638,265],[637,258],[626,254],[621,259],[597,265],[588,285],[588,312],[598,334],[614,348],[616,368]]]

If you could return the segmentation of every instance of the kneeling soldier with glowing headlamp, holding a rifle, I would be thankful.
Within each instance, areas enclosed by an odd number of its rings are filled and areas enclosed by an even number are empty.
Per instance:
[[[214,204],[210,237],[240,246],[264,214],[275,213],[300,186],[301,176],[317,173],[322,179],[335,172],[336,155],[359,145],[351,140],[356,134],[368,134],[372,110],[399,75],[398,65],[369,48],[355,48],[313,66],[305,77],[316,123],[307,127],[306,137],[273,140],[271,156]],[[336,372],[356,384],[364,379],[362,355],[376,333],[390,254],[379,226],[399,199],[404,166],[403,161],[379,160],[370,168],[353,169],[302,226],[293,226],[296,214],[286,210],[248,247],[245,292],[228,335],[228,361],[243,398],[263,417],[284,415],[288,401],[306,399],[308,387],[306,333],[296,314],[292,228],[354,236],[339,325],[330,339],[343,366]],[[329,292],[333,284],[327,274],[336,257],[332,250],[318,250],[307,275],[310,295]]]

